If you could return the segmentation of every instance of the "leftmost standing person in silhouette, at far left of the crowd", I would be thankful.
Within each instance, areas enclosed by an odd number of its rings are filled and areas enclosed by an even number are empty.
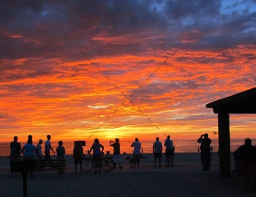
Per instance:
[[[18,142],[18,136],[14,136],[14,140],[10,143],[10,149],[11,175],[13,176],[14,168],[17,166],[16,161],[21,160],[21,143]],[[17,172],[15,176],[17,176]]]

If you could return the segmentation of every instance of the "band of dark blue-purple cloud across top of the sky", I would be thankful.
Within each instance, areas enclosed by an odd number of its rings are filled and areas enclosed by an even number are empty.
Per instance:
[[[228,48],[255,43],[255,10],[223,13],[221,4],[221,0],[77,0],[61,4],[5,0],[1,2],[0,57],[68,58],[75,48],[94,57],[138,54],[150,47]],[[194,34],[187,36],[189,31]]]

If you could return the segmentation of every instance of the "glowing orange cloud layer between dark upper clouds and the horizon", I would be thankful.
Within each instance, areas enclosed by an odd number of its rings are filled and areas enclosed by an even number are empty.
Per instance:
[[[246,56],[255,49],[239,46],[224,55],[179,49],[170,56],[175,50],[159,51],[156,58],[150,52],[103,56],[91,59],[93,64],[62,58],[6,61],[15,67],[1,82],[2,140],[17,133],[21,138],[51,133],[73,139],[94,133],[132,139],[170,131],[181,139],[217,130],[216,115],[205,104],[253,86],[255,59]],[[231,133],[242,137],[246,120],[236,120]]]

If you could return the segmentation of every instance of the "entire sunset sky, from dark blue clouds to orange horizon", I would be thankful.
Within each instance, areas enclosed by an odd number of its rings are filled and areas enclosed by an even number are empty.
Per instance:
[[[2,0],[0,24],[0,141],[213,137],[205,104],[256,86],[256,0]]]

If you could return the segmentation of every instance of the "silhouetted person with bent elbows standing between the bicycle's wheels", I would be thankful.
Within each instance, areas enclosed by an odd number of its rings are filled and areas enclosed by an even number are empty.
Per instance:
[[[101,148],[101,150],[100,150]],[[93,150],[93,160],[94,160],[94,167],[95,167],[95,171],[93,173],[97,173],[97,168],[99,168],[99,172],[100,172],[100,167],[101,167],[101,154],[104,150],[104,146],[101,145],[99,143],[99,139],[95,138],[94,139],[94,143],[92,144],[90,150],[88,153],[91,152],[91,150]]]

